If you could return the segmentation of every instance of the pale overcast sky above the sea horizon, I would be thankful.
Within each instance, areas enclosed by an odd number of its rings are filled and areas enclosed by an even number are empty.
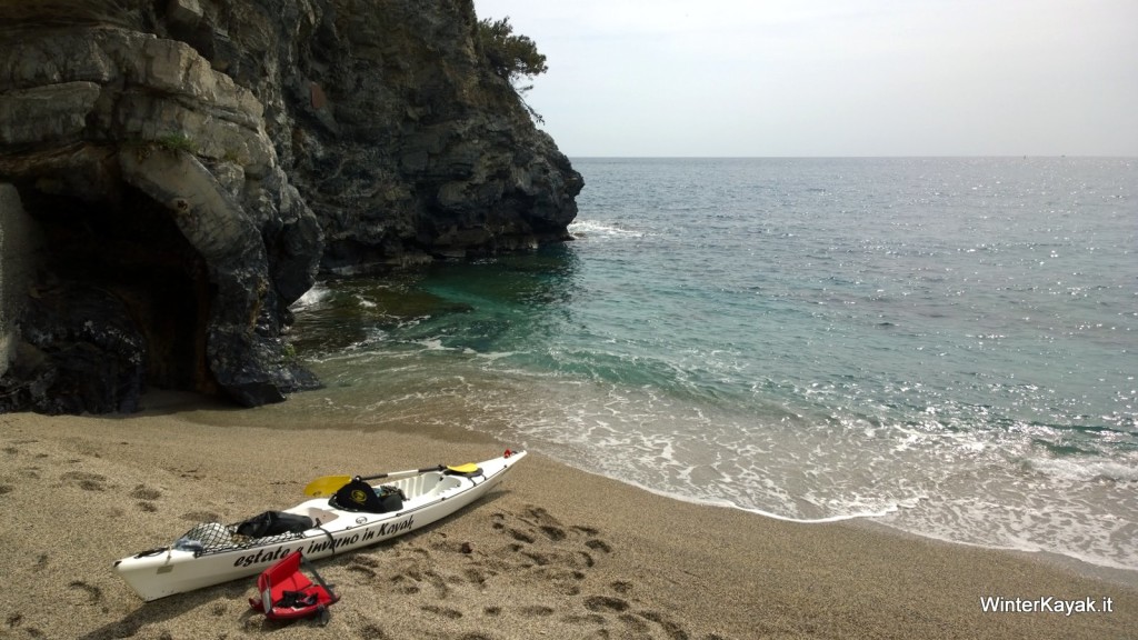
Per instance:
[[[1138,156],[1138,0],[475,0],[570,157]]]

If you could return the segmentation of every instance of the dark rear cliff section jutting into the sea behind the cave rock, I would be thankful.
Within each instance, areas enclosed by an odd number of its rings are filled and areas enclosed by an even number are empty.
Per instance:
[[[287,18],[266,19],[270,5]],[[485,64],[470,0],[201,7],[185,39],[263,100],[280,162],[321,222],[323,271],[568,238],[580,174]]]

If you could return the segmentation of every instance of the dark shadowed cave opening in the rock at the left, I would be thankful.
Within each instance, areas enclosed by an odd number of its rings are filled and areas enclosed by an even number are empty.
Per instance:
[[[51,277],[122,302],[145,339],[147,386],[217,392],[206,359],[213,285],[168,208],[127,184],[100,203],[36,194],[25,204]]]

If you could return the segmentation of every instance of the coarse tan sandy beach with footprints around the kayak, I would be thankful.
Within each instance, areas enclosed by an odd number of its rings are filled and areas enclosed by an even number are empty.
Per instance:
[[[288,403],[236,410],[178,395],[125,417],[0,416],[0,638],[1138,635],[1138,586],[1123,572],[685,503],[539,453],[454,517],[320,560],[343,594],[325,627],[254,614],[255,579],[143,602],[112,571],[199,522],[292,506],[321,475],[518,444],[460,428],[298,425]],[[988,598],[1042,610],[986,613]],[[1067,602],[1096,610],[1052,610]]]

